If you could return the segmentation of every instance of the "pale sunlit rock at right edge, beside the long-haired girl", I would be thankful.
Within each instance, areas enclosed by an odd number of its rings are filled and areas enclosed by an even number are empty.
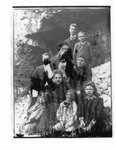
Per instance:
[[[111,108],[111,63],[107,62],[92,68],[92,81],[96,84],[98,93],[104,100],[104,106]]]

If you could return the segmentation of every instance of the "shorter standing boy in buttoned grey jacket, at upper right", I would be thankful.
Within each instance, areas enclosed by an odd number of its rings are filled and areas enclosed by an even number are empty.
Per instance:
[[[84,55],[87,61],[87,66],[91,64],[91,58],[92,58],[92,48],[91,44],[85,40],[85,32],[80,31],[78,33],[78,40],[74,46],[74,52],[73,52],[73,60],[74,64],[76,64],[76,59],[79,55]]]

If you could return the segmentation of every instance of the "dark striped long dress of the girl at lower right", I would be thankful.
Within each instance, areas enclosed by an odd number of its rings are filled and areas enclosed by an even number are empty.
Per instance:
[[[103,99],[95,97],[92,100],[84,98],[82,101],[82,117],[84,118],[85,126],[87,127],[92,120],[96,123],[91,128],[91,132],[87,132],[86,136],[97,136],[101,134],[103,129],[102,111]]]

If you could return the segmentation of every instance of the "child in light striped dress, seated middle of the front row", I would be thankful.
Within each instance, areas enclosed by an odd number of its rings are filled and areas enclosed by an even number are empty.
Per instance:
[[[60,103],[57,110],[58,123],[53,127],[55,131],[73,132],[76,129],[77,104],[75,92],[70,89],[67,91],[66,100]]]

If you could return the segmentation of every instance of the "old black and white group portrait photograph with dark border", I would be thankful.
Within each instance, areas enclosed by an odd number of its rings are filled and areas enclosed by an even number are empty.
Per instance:
[[[12,9],[12,136],[111,138],[111,7]]]

